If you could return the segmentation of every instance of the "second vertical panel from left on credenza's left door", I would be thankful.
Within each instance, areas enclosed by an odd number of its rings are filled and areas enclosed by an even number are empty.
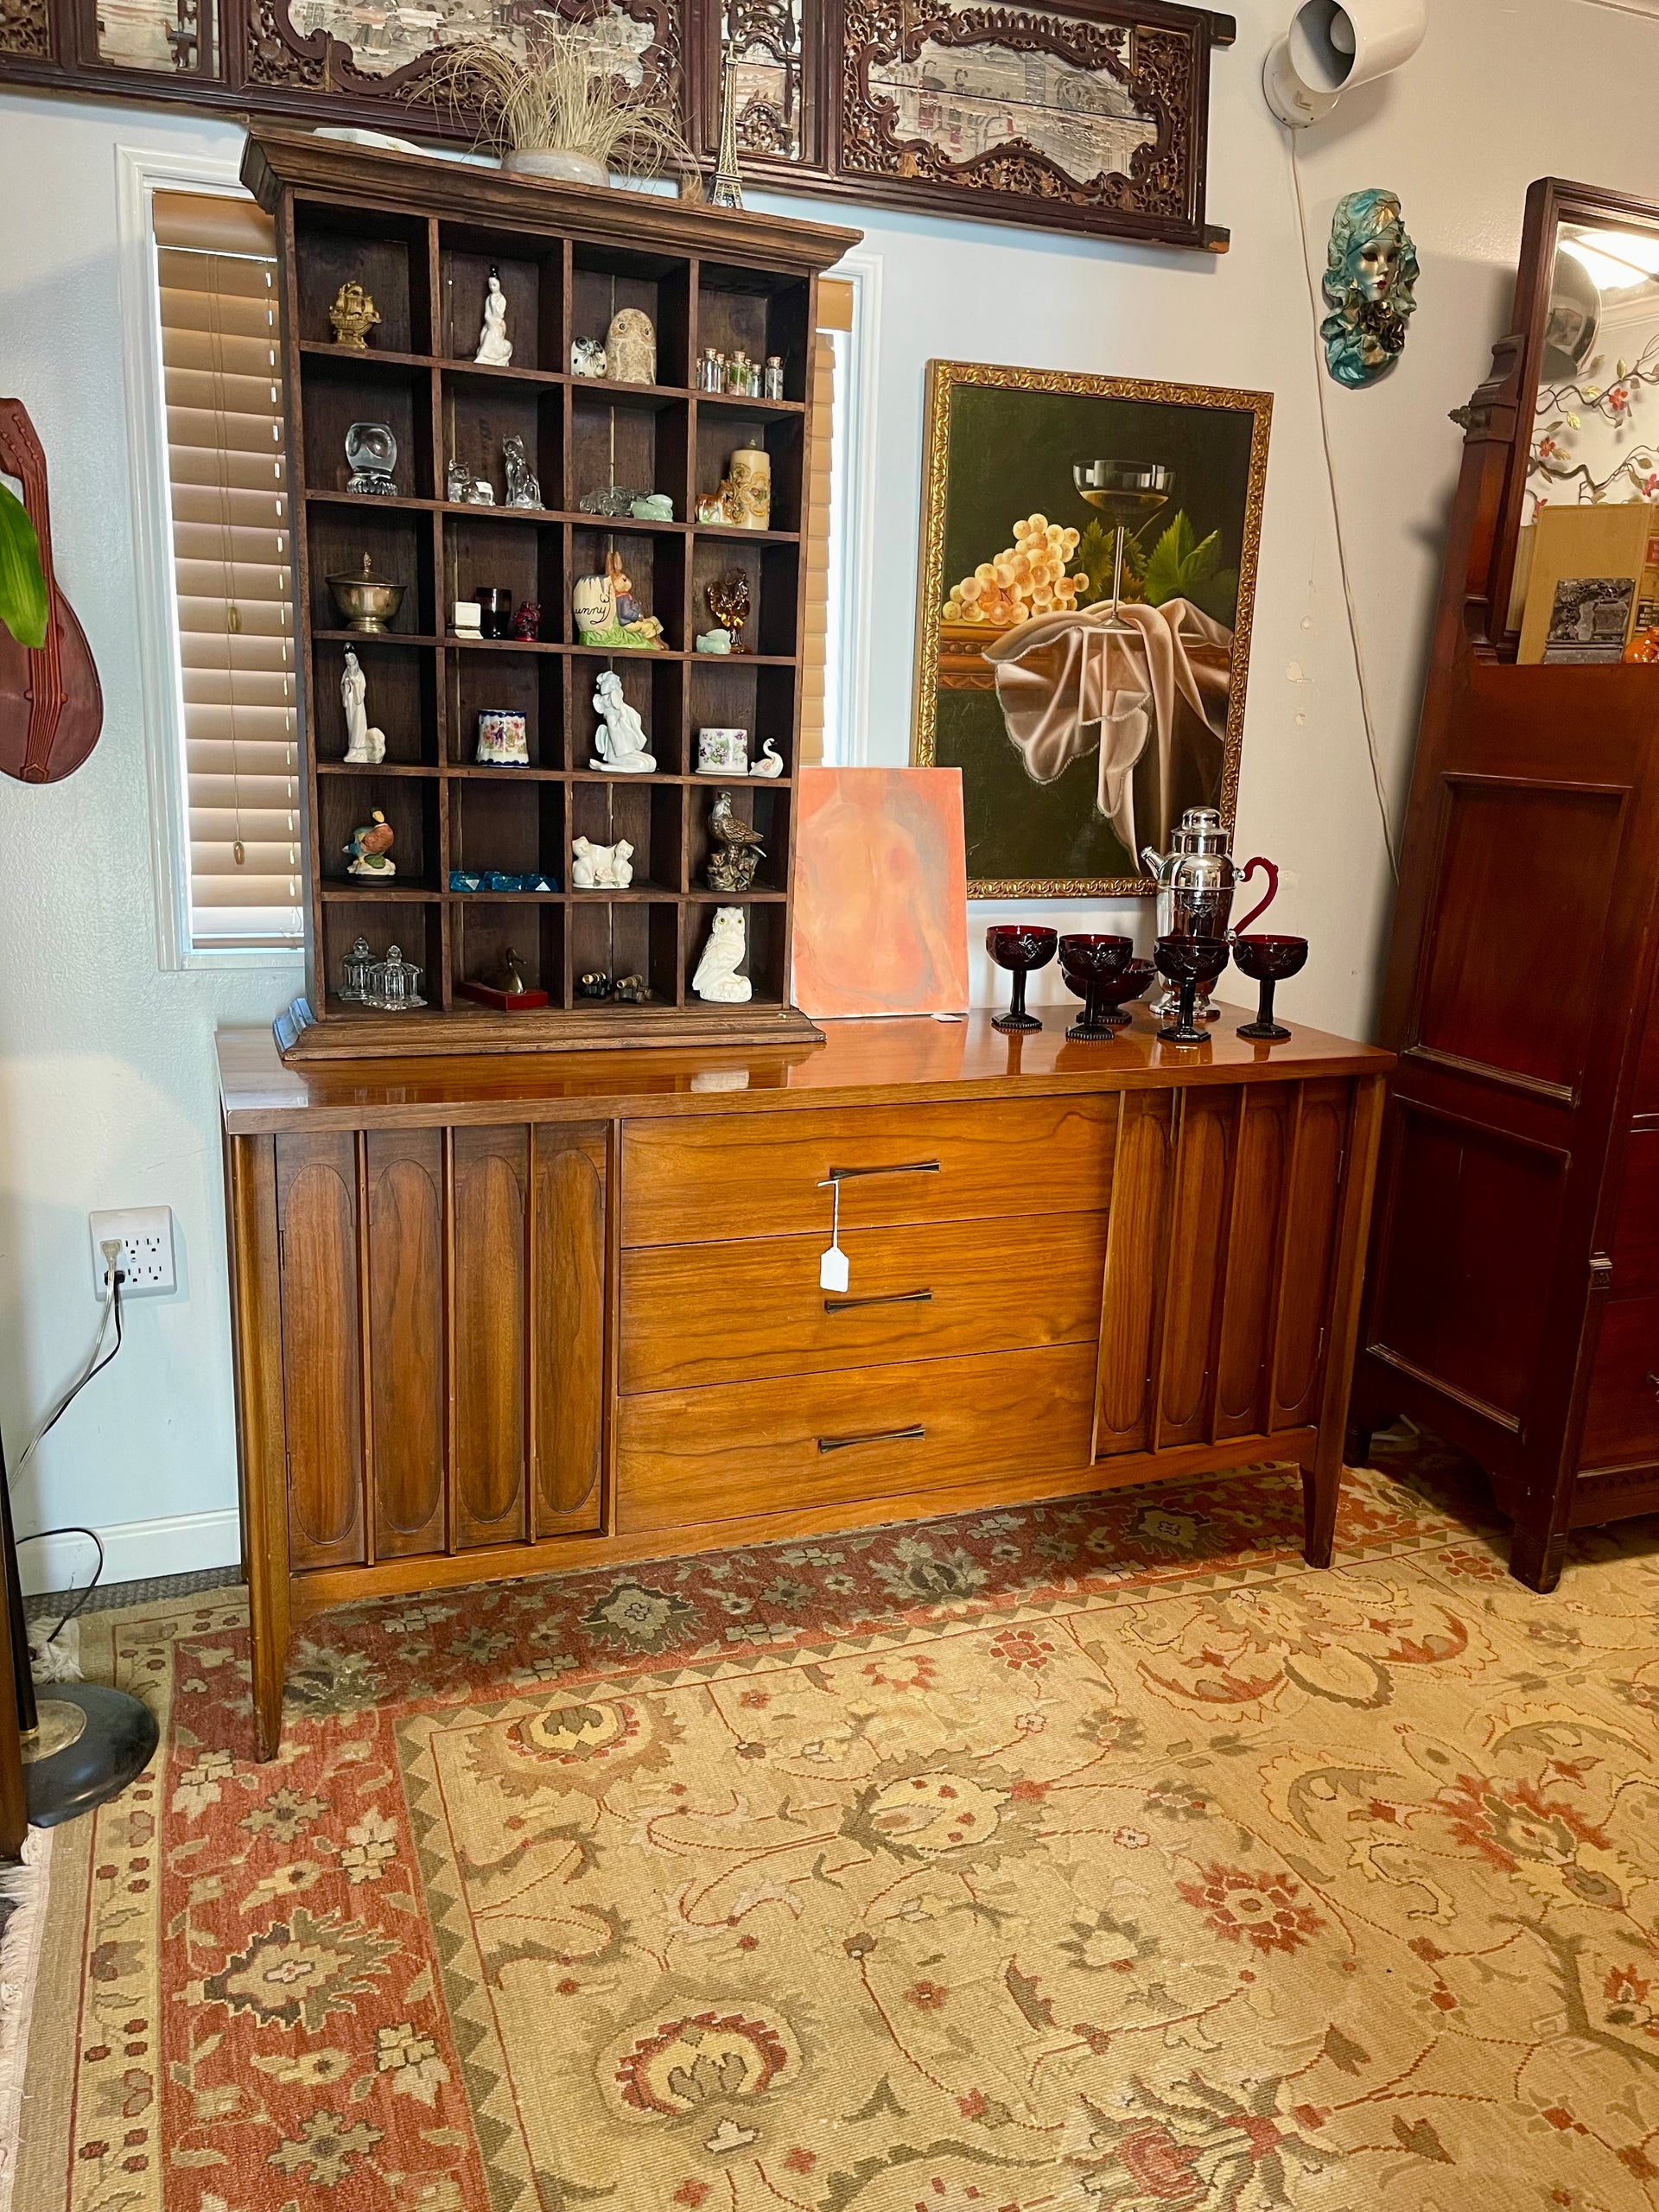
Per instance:
[[[445,1548],[442,1130],[374,1128],[369,1188],[369,1416],[374,1553]]]

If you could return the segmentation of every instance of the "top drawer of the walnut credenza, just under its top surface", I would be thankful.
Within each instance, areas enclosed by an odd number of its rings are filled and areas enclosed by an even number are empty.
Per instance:
[[[624,1245],[743,1237],[830,1241],[841,1177],[849,1230],[900,1221],[1099,1212],[1113,1181],[1117,1097],[710,1115],[628,1121]]]

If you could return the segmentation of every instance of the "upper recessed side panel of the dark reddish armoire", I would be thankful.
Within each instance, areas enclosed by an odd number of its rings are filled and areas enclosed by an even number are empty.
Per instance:
[[[1566,783],[1444,779],[1413,1053],[1577,1093],[1624,799]]]

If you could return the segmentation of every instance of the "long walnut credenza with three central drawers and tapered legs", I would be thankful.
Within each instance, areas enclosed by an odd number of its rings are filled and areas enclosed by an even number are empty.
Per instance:
[[[1389,1055],[1051,1024],[288,1068],[226,1031],[261,1756],[292,1624],[374,1593],[1265,1453],[1325,1564]]]

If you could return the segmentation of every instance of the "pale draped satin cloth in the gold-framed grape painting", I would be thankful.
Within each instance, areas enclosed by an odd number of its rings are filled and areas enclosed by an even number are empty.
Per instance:
[[[1108,630],[1108,604],[1037,615],[984,648],[1009,737],[1026,774],[1053,783],[1099,748],[1097,805],[1128,852],[1164,847],[1181,810],[1214,805],[1228,743],[1232,630],[1188,599],[1126,604],[1130,630]],[[1152,750],[1157,821],[1135,821],[1135,776]],[[1144,796],[1146,803],[1146,796]]]

